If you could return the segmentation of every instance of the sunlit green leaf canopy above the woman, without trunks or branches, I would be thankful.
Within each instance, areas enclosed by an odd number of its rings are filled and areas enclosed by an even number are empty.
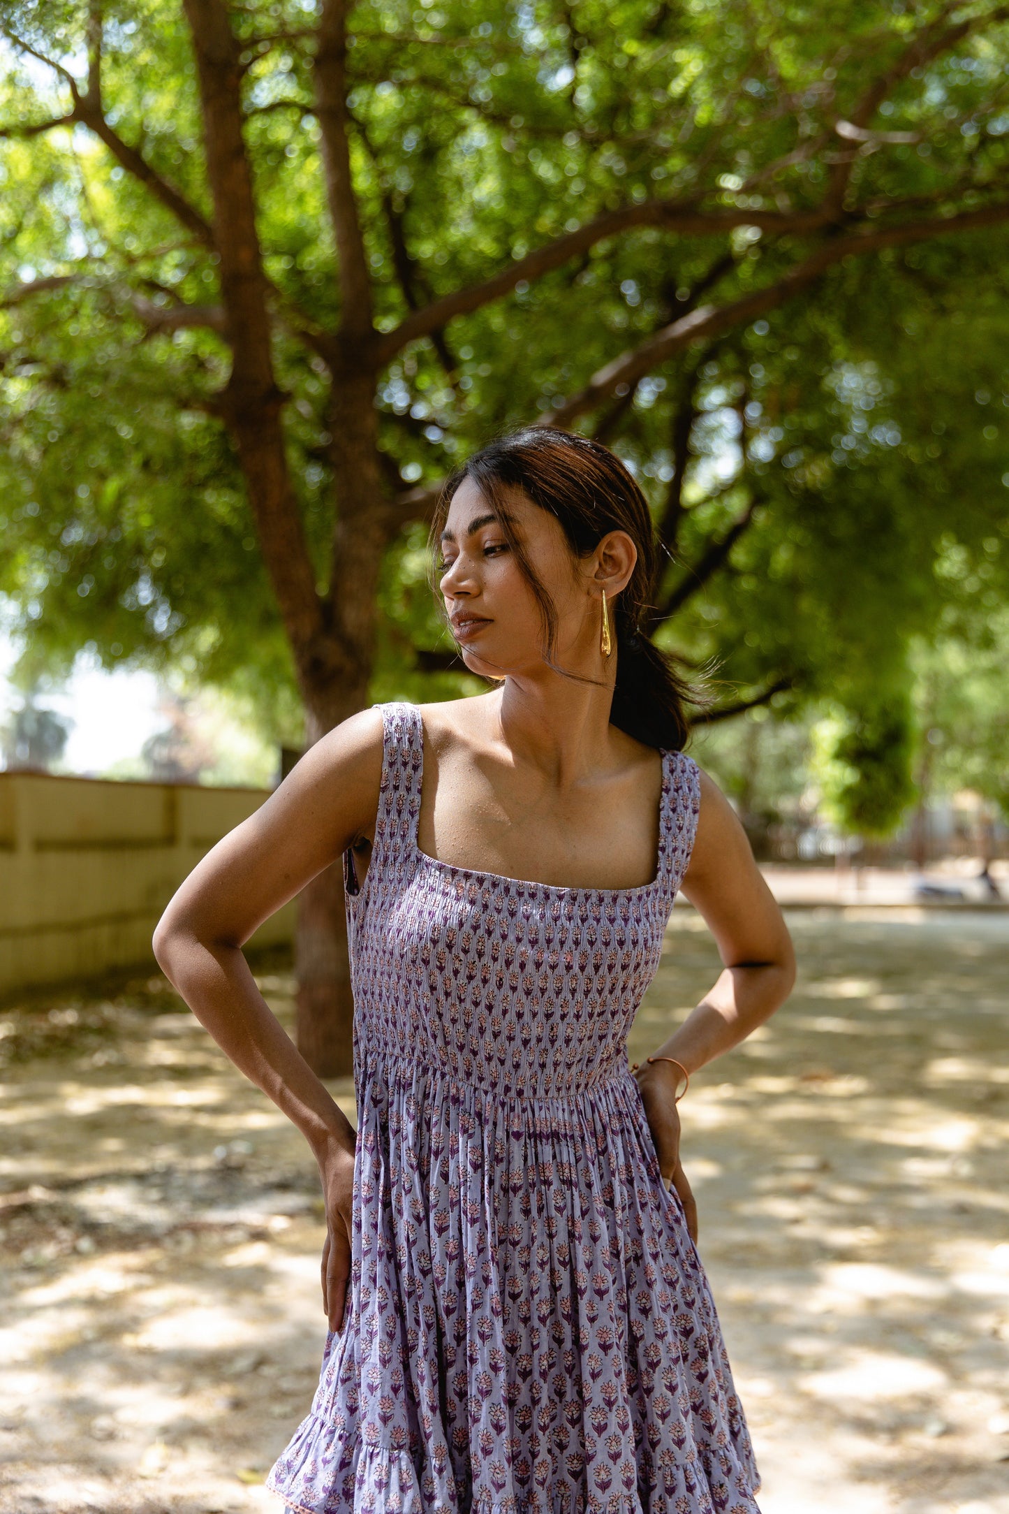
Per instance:
[[[961,12],[958,12],[959,15]],[[998,204],[1009,117],[1003,21],[991,6],[914,70],[897,70],[862,139],[843,139],[876,74],[945,11],[883,0],[753,12],[729,0],[362,3],[348,50],[351,157],[375,324],[478,285],[593,217],[657,197],[709,215],[812,212],[843,150],[844,217],[882,204],[944,218]],[[986,21],[985,17],[989,15]],[[339,419],[300,330],[339,321],[334,238],[301,0],[234,8],[247,144],[275,365],[319,584],[334,522]],[[88,6],[5,6],[5,26],[83,82]],[[215,409],[230,353],[216,257],[83,124],[67,80],[6,44],[0,121],[0,592],[26,657],[61,668],[185,663],[239,687],[296,742],[293,666],[231,444]],[[192,51],[177,0],[104,9],[103,104],[115,132],[197,217],[210,215]],[[865,135],[865,132],[868,135]],[[886,135],[889,133],[889,135]],[[891,213],[891,221],[894,215]],[[738,221],[738,215],[737,215]],[[390,492],[431,483],[502,427],[702,301],[787,276],[811,233],[641,224],[519,283],[396,353],[378,377]],[[660,362],[579,424],[635,469],[657,519],[682,484],[663,593],[752,521],[660,640],[729,686],[782,684],[776,715],[850,712],[835,790],[850,824],[885,830],[908,789],[908,646],[947,607],[977,627],[1004,600],[1009,554],[1009,303],[1000,223],[849,257],[765,318]],[[696,382],[693,378],[696,371]],[[690,395],[685,475],[673,433]],[[422,525],[387,554],[375,696],[473,687],[428,674],[437,651]],[[431,681],[437,678],[439,681]],[[880,683],[903,689],[880,709]]]

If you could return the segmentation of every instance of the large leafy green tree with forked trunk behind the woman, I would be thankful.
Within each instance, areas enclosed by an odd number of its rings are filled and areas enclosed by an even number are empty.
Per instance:
[[[932,442],[896,350],[923,312],[976,335],[1003,277],[1003,9],[3,17],[0,587],[36,646],[287,678],[313,742],[366,702],[383,636],[452,665],[408,592],[437,480],[539,419],[591,427],[652,491],[654,634],[722,659],[717,715],[830,677],[856,701],[900,662],[952,474],[936,459],[908,589]],[[994,394],[994,341],[986,363]],[[959,398],[973,366],[947,366]],[[995,430],[968,553],[1004,518]],[[852,624],[838,563],[858,598],[893,590],[889,625]],[[337,868],[303,892],[296,954],[300,1045],[346,1072]]]

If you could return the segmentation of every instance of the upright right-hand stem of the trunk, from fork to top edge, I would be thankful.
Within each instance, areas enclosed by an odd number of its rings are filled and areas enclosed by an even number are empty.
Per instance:
[[[340,329],[351,338],[372,335],[372,292],[357,195],[351,174],[346,109],[348,0],[322,0],[315,55],[316,117],[322,133],[325,188],[336,235],[340,279]]]

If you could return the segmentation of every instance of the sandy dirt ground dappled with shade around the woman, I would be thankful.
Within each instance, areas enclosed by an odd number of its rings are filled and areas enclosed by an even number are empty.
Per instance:
[[[1009,914],[790,925],[796,993],[682,1105],[761,1509],[1009,1514]],[[678,907],[632,1058],[716,970]],[[0,1037],[0,1509],[280,1514],[325,1334],[301,1137],[159,977]]]

